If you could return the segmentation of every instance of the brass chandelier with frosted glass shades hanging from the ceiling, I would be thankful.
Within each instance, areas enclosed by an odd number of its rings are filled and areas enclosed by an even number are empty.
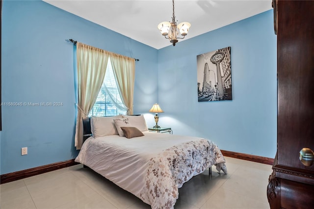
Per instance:
[[[183,22],[177,26],[177,21],[175,19],[176,17],[175,17],[175,1],[174,0],[172,0],[172,7],[173,7],[172,22],[171,23],[162,22],[162,23],[159,23],[157,27],[160,30],[161,34],[165,38],[169,39],[170,43],[172,43],[172,45],[175,46],[176,43],[178,42],[178,38],[183,39],[187,35],[188,28],[190,28],[191,24],[189,24],[188,22]],[[177,28],[179,28],[180,34],[183,37],[177,37],[177,35],[179,34]]]

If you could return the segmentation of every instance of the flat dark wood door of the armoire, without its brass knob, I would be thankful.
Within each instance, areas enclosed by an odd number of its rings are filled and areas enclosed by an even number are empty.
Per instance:
[[[277,164],[314,176],[299,159],[314,150],[314,1],[277,2]]]

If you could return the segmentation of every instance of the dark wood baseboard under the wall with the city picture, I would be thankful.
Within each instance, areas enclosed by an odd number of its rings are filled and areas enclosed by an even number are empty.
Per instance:
[[[259,163],[263,163],[267,165],[273,165],[274,163],[274,159],[269,158],[269,157],[261,157],[261,156],[249,155],[249,154],[244,154],[244,153],[236,153],[236,152],[226,151],[226,150],[221,150],[221,153],[223,156],[226,156],[226,157],[244,159],[244,160],[259,162]]]

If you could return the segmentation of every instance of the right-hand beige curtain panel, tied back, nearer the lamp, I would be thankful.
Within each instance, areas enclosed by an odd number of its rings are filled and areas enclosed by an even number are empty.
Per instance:
[[[133,114],[133,93],[135,78],[135,60],[131,57],[110,52],[110,61],[117,81],[122,102]]]

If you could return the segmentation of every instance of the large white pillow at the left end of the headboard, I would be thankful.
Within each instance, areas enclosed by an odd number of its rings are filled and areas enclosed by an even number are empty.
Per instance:
[[[90,126],[92,134],[95,138],[107,135],[118,135],[118,131],[114,125],[113,119],[122,118],[121,115],[112,117],[97,117],[92,116]]]

